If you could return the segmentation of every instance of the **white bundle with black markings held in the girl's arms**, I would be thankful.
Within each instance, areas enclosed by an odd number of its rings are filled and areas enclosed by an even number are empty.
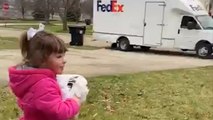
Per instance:
[[[74,96],[80,98],[80,103],[86,101],[89,89],[87,80],[77,74],[61,74],[56,76],[57,82],[61,88],[63,100]]]

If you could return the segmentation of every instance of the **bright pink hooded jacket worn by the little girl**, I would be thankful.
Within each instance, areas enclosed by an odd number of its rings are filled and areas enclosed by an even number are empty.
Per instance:
[[[11,67],[9,77],[9,85],[24,113],[21,120],[67,120],[79,112],[79,105],[73,99],[62,101],[52,71]]]

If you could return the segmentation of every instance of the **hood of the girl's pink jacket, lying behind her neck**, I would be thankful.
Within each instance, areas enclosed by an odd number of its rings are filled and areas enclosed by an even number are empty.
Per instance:
[[[55,79],[55,75],[48,69],[16,70],[9,68],[9,85],[18,98],[22,98],[29,89],[43,78]]]

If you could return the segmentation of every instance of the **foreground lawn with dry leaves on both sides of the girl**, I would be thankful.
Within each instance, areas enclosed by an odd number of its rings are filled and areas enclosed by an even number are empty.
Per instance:
[[[206,67],[88,78],[79,120],[213,120],[212,73]],[[7,88],[0,96],[0,119],[18,116]]]

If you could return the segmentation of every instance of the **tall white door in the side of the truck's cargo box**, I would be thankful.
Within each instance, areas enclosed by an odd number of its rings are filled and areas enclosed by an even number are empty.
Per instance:
[[[160,1],[145,3],[144,45],[161,45],[165,6]]]

